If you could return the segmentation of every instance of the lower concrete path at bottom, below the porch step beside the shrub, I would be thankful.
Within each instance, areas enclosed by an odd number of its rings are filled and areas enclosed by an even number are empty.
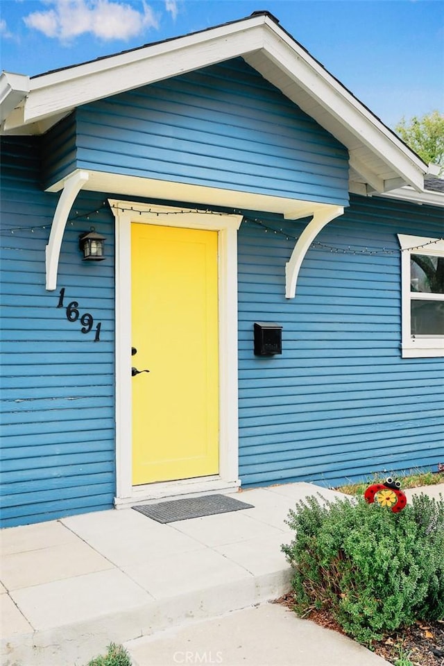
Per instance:
[[[261,604],[206,622],[138,638],[125,646],[133,666],[386,666],[350,638]]]

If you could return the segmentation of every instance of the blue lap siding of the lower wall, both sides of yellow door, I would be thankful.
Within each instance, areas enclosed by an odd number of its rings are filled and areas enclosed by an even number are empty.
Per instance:
[[[108,509],[115,494],[114,217],[103,206],[104,195],[80,193],[62,244],[58,289],[46,291],[44,247],[59,195],[41,189],[39,151],[40,139],[32,137],[5,139],[2,148],[3,526]],[[353,196],[309,250],[293,300],[284,298],[284,266],[291,237],[306,221],[244,214],[244,487],[337,484],[443,462],[444,359],[401,358],[396,237],[441,237],[441,209]],[[82,262],[78,250],[79,234],[91,225],[107,238],[109,258],[99,266]],[[79,321],[68,321],[66,307],[74,300],[81,314],[90,312],[102,323],[99,342],[94,328],[83,334]],[[254,357],[255,321],[283,325],[282,356]]]

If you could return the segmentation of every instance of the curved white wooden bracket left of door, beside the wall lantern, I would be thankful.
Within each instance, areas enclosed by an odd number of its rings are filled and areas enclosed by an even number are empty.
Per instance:
[[[60,248],[62,247],[63,234],[67,225],[68,215],[74,204],[74,200],[89,178],[87,171],[75,171],[67,176],[62,194],[54,213],[51,233],[48,245],[45,249],[46,256],[46,291],[54,291],[57,287],[58,261]]]

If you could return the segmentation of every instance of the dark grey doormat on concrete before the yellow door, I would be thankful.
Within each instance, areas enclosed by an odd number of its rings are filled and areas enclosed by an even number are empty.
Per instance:
[[[200,518],[203,515],[214,515],[215,513],[254,509],[254,507],[253,504],[239,502],[239,499],[226,495],[204,495],[204,497],[171,499],[169,502],[158,502],[158,504],[142,504],[133,506],[133,509],[143,513],[148,518],[157,520],[157,522],[166,523]]]

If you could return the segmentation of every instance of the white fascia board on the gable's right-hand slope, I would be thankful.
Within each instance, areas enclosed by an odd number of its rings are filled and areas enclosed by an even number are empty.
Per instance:
[[[264,49],[273,62],[336,121],[377,154],[404,182],[422,190],[427,165],[364,105],[285,33],[268,33]],[[295,57],[296,56],[296,57]]]

